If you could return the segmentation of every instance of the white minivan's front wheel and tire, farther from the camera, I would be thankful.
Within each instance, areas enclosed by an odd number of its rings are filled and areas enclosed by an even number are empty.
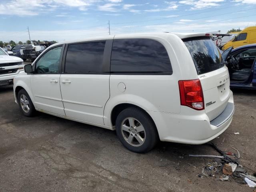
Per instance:
[[[34,104],[32,103],[28,93],[24,89],[18,92],[17,100],[20,106],[20,110],[25,116],[34,116],[36,112]]]

